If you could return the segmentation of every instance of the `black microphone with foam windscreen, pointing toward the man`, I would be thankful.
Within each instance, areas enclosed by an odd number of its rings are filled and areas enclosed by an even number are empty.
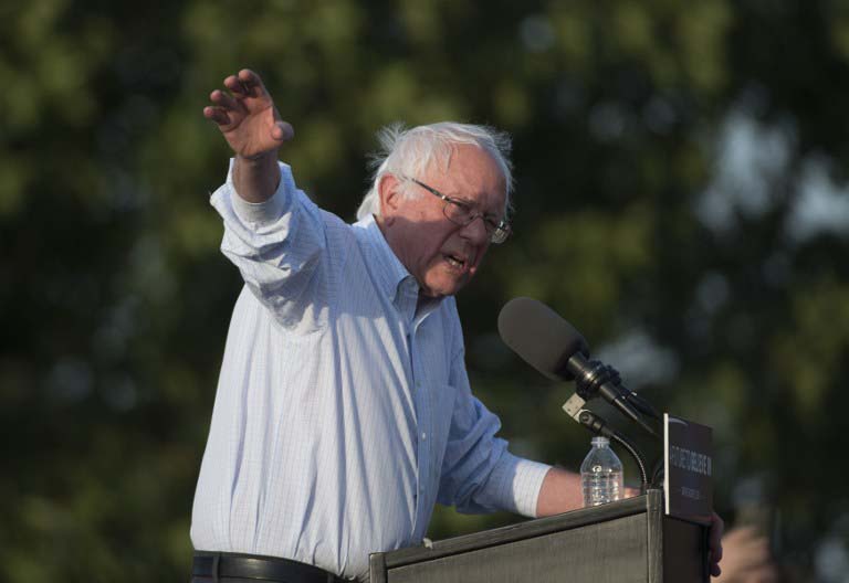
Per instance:
[[[575,380],[579,394],[586,393],[580,396],[588,399],[597,392],[625,416],[658,435],[628,402],[631,392],[619,386],[618,373],[590,361],[589,347],[580,332],[545,304],[526,297],[511,299],[499,314],[499,333],[505,344],[548,379]]]

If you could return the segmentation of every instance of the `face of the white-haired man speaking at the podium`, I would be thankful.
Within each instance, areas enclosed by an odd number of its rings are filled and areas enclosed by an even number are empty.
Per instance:
[[[475,211],[501,219],[506,184],[495,160],[475,146],[455,147],[447,171],[431,165],[421,182],[442,194],[468,203]],[[408,199],[403,188],[419,189]],[[457,294],[478,272],[490,246],[483,221],[461,226],[446,218],[446,202],[420,186],[387,176],[381,182],[380,227],[389,246],[421,293],[429,297]]]

